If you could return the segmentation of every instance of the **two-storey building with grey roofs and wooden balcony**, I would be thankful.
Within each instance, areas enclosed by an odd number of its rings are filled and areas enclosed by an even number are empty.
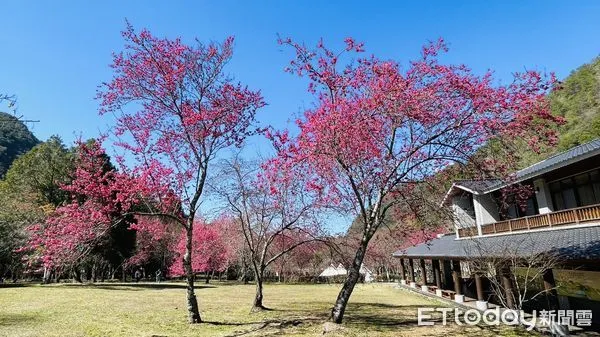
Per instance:
[[[455,231],[395,252],[403,283],[457,302],[466,295],[481,309],[488,302],[510,307],[516,304],[500,301],[491,281],[502,279],[503,289],[514,291],[521,268],[490,274],[474,272],[473,265],[509,254],[526,264],[544,255],[555,260],[539,275],[543,296],[525,309],[591,309],[600,323],[600,139],[516,172],[511,184],[530,186],[531,197],[520,205],[510,198],[500,203],[505,182],[456,181],[442,201],[453,211]]]

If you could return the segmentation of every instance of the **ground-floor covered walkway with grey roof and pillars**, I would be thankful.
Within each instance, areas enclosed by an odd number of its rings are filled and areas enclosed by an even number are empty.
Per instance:
[[[539,253],[557,256],[561,261],[560,268],[568,269],[572,264],[573,268],[580,270],[598,270],[600,226],[590,224],[464,239],[457,239],[451,233],[399,250],[393,255],[400,259],[402,285],[457,303],[465,303],[472,298],[475,306],[484,310],[491,306],[490,300],[494,294],[488,286],[486,275],[472,272],[469,262],[509,254],[527,258]],[[506,292],[514,291],[512,272],[510,268],[498,270],[498,277],[502,279]],[[554,274],[552,269],[543,274],[548,309],[568,309],[559,303]],[[508,302],[511,298],[506,296]],[[513,305],[514,303],[507,303],[507,307],[514,308]]]

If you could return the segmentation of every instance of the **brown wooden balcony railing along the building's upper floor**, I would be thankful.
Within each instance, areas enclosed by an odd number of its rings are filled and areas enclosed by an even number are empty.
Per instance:
[[[600,220],[600,204],[494,222],[481,226],[481,233],[485,235],[504,232],[517,232],[540,227],[578,224],[594,220]],[[472,231],[464,231],[464,236],[472,236],[477,234],[471,234],[470,232]],[[463,237],[460,230],[458,235]]]

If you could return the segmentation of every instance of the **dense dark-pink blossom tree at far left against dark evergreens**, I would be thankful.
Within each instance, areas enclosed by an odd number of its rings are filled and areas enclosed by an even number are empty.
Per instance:
[[[127,213],[136,203],[134,195],[123,193],[134,180],[115,170],[100,141],[78,142],[75,157],[72,181],[60,186],[69,201],[48,209],[45,222],[29,226],[30,238],[23,247],[32,252],[29,262],[41,262],[46,271],[74,266],[107,248],[115,231],[134,222]]]

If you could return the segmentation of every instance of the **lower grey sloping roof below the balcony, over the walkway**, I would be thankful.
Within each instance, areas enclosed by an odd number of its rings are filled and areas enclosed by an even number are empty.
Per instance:
[[[567,260],[600,259],[600,224],[499,236],[456,239],[447,234],[405,250],[396,257],[466,259],[552,253]]]

